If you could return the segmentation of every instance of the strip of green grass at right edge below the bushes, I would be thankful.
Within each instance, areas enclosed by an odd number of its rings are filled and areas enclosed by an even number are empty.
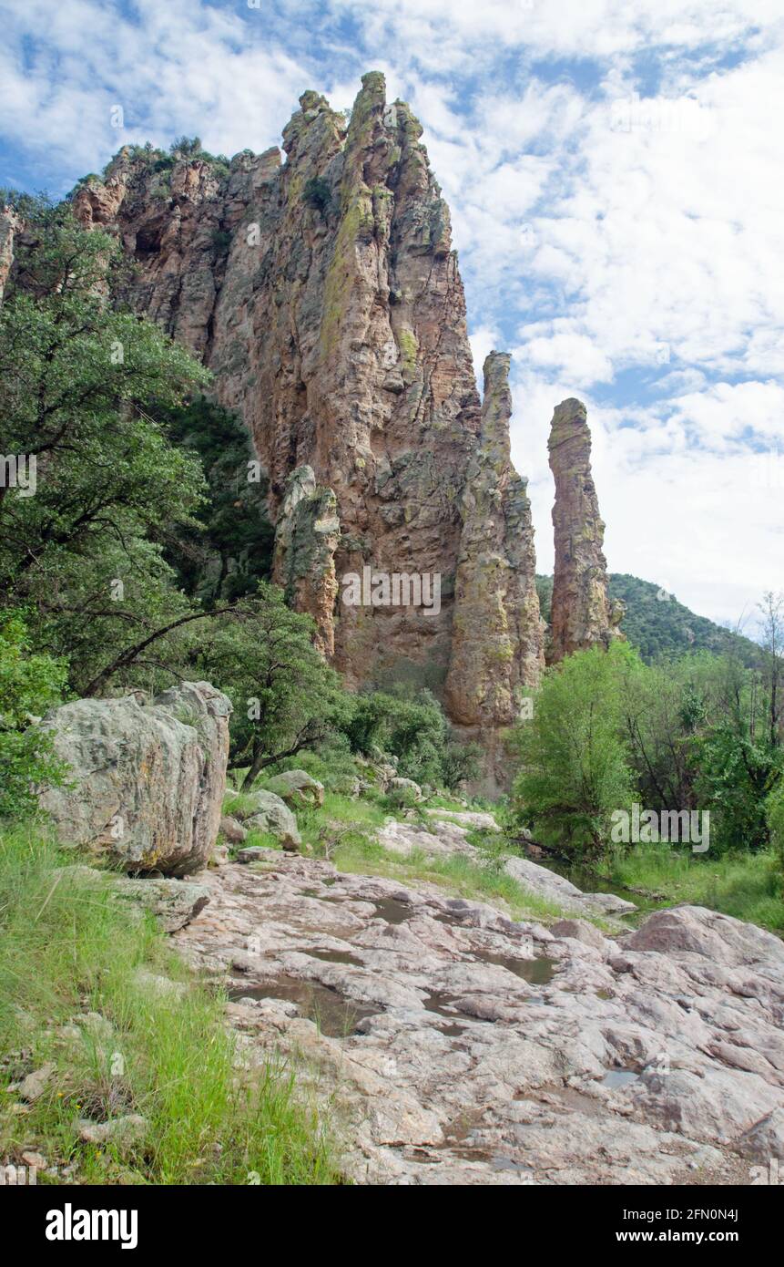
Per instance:
[[[784,931],[784,883],[773,854],[700,856],[670,846],[637,846],[609,867],[616,884],[661,893],[669,903],[689,902]]]

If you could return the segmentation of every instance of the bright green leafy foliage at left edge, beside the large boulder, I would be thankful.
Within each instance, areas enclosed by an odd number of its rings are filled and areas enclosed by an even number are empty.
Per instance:
[[[0,613],[0,818],[35,807],[35,792],[60,784],[65,768],[33,721],[60,702],[66,665],[30,651],[19,612]]]

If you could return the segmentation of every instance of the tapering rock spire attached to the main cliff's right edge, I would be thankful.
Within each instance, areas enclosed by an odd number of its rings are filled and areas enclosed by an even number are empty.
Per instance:
[[[484,366],[479,445],[461,499],[446,682],[452,717],[485,730],[515,720],[522,697],[545,668],[527,480],[509,456],[509,360],[505,352],[490,352]]]

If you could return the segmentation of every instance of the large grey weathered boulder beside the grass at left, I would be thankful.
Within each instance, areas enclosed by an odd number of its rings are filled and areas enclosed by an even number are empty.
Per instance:
[[[63,844],[108,853],[129,872],[204,867],[220,822],[231,712],[209,683],[185,682],[151,704],[76,699],[47,715],[71,773],[41,803]]]

